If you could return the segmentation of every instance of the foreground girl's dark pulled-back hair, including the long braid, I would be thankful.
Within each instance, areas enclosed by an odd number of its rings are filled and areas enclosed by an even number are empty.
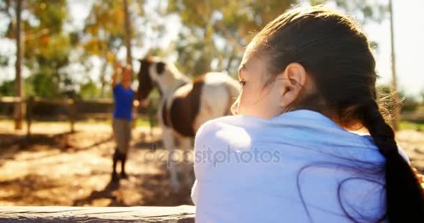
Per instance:
[[[386,158],[386,217],[389,222],[421,220],[423,188],[398,153],[395,134],[379,111],[374,56],[356,24],[325,8],[294,8],[267,24],[251,44],[251,53],[263,56],[273,77],[294,62],[312,77],[317,92],[303,95],[296,109],[327,114],[342,126],[361,123],[368,129]]]

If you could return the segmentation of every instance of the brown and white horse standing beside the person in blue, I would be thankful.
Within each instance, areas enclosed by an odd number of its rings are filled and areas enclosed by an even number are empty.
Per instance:
[[[179,190],[176,165],[172,160],[176,140],[184,150],[191,149],[192,138],[200,125],[230,114],[241,86],[221,72],[208,72],[190,80],[173,63],[158,57],[148,57],[140,62],[137,98],[145,104],[154,87],[160,91],[158,120],[162,127],[162,141],[169,154],[170,183],[173,190]]]

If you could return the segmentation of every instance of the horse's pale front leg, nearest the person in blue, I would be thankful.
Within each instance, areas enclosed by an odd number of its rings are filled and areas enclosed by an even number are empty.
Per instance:
[[[174,134],[172,133],[171,128],[162,128],[162,140],[163,145],[168,151],[168,160],[167,160],[167,168],[169,169],[170,174],[170,184],[172,190],[174,192],[179,190],[179,181],[178,181],[178,172],[176,164],[174,164],[175,160],[173,160],[173,155],[175,152],[175,139]]]

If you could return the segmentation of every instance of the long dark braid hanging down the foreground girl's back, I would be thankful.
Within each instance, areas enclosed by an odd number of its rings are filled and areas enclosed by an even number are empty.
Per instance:
[[[395,133],[385,121],[375,100],[360,109],[361,121],[379,151],[386,157],[386,199],[390,222],[422,222],[424,196],[416,175],[398,152]],[[418,195],[418,196],[417,196]]]

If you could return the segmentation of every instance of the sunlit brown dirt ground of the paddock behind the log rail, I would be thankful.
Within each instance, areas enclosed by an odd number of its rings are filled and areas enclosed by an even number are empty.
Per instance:
[[[166,164],[152,162],[162,153],[160,129],[135,128],[127,162],[129,178],[110,182],[114,142],[107,123],[34,123],[30,139],[0,121],[0,206],[177,206],[192,204],[192,181],[169,187]],[[25,128],[24,128],[25,129]],[[424,133],[398,132],[412,164],[424,171]],[[153,146],[156,145],[156,146]],[[149,156],[150,155],[150,156]],[[179,164],[181,172],[188,163]],[[181,175],[180,178],[185,178]]]

